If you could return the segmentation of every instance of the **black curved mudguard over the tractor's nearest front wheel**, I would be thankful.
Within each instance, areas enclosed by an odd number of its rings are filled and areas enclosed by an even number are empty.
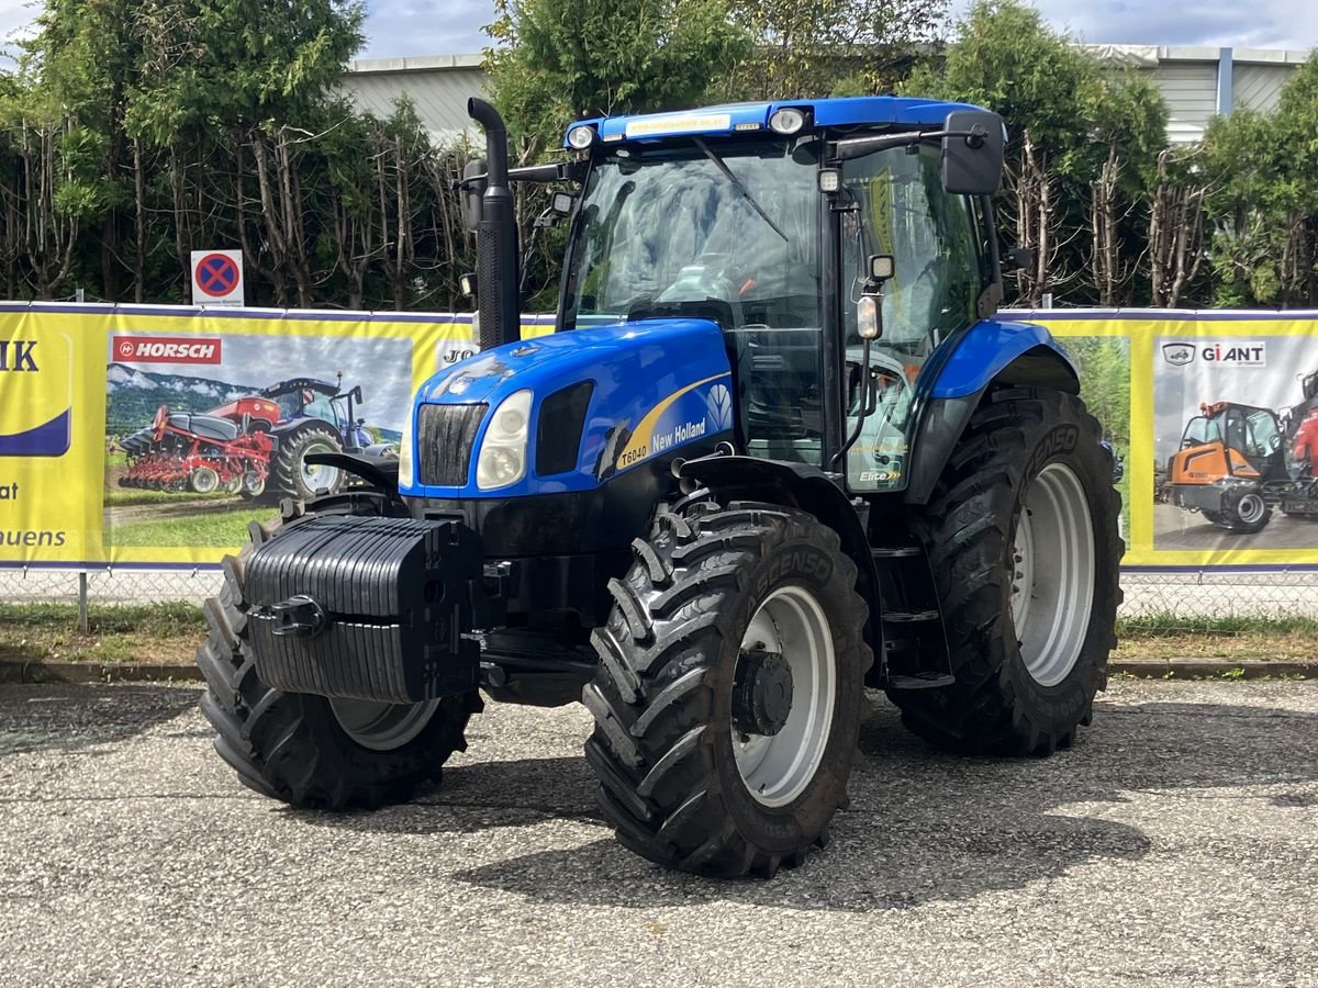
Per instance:
[[[697,481],[729,499],[768,501],[808,511],[838,534],[842,552],[855,563],[855,589],[870,609],[866,642],[876,647],[878,576],[865,526],[847,495],[816,466],[750,456],[688,460],[677,476]]]

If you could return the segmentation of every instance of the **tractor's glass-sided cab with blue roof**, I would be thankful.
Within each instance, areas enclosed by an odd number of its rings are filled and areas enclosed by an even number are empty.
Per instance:
[[[892,97],[580,123],[559,329],[710,319],[749,456],[902,490],[927,360],[1000,298],[1002,134]]]

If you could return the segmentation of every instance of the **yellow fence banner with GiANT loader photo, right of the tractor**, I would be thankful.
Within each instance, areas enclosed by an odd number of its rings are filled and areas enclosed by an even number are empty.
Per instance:
[[[1127,566],[1318,564],[1318,312],[1036,311],[1120,462]]]

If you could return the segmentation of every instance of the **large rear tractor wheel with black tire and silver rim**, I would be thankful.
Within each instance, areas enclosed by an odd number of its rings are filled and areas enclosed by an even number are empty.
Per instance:
[[[1078,398],[1012,389],[985,399],[953,449],[916,527],[956,681],[888,689],[928,742],[1050,755],[1090,723],[1116,644],[1124,551],[1099,439]]]

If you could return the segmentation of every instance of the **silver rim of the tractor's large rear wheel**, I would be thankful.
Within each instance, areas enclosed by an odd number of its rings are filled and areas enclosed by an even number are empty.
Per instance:
[[[1095,586],[1094,523],[1074,470],[1045,466],[1016,519],[1011,617],[1025,669],[1040,686],[1065,680],[1089,634]]]

